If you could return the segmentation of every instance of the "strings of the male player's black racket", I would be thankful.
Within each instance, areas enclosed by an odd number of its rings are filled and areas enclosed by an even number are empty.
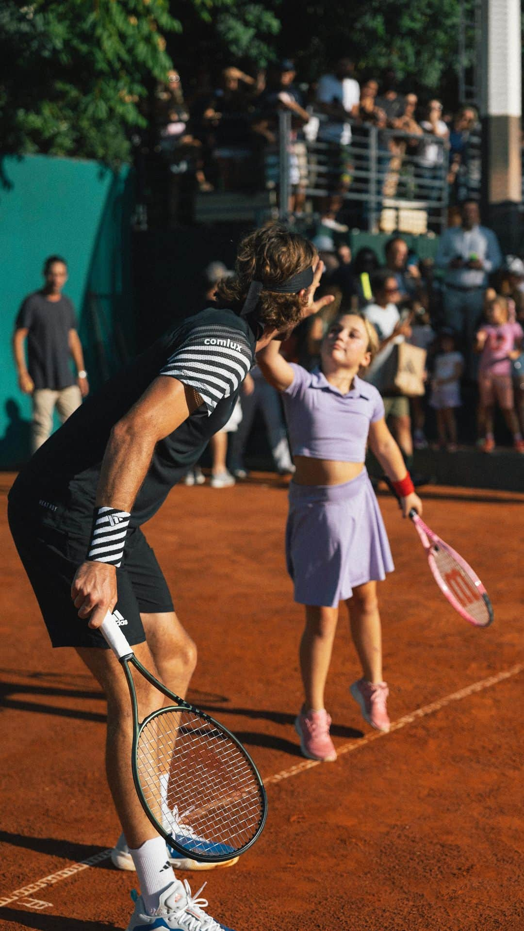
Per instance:
[[[146,803],[187,851],[233,854],[259,830],[262,791],[249,760],[194,711],[155,715],[141,730],[137,764]]]

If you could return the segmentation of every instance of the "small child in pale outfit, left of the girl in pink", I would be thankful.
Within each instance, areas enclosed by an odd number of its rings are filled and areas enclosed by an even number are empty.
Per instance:
[[[429,403],[437,412],[438,445],[448,452],[457,450],[455,408],[461,406],[460,378],[463,370],[464,356],[455,348],[453,331],[440,331]]]

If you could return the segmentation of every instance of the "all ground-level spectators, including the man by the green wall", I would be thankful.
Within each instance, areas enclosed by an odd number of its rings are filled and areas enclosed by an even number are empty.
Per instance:
[[[333,236],[343,236],[337,204],[335,198],[324,224]],[[398,234],[385,243],[382,265],[369,246],[354,257],[343,238],[334,251],[316,245],[326,268],[320,288],[334,301],[293,331],[283,344],[286,358],[313,370],[333,318],[360,313],[379,341],[363,377],[381,392],[410,470],[413,449],[426,448],[428,440],[436,450],[456,452],[459,443],[477,439],[482,452],[493,452],[495,427],[499,439],[509,436],[515,451],[524,453],[524,262],[515,255],[504,259],[497,237],[480,223],[477,202],[464,202],[458,223],[440,237],[435,260],[421,261]],[[209,263],[202,303],[213,304],[219,282],[232,274],[221,261]],[[51,431],[55,406],[63,421],[88,392],[74,307],[62,293],[66,260],[50,256],[44,278],[43,288],[21,305],[13,337],[20,391],[33,400],[33,451]],[[280,399],[255,367],[230,422],[211,440],[211,487],[247,477],[245,454],[257,411],[276,471],[293,472]],[[204,481],[199,467],[186,476],[186,484]]]

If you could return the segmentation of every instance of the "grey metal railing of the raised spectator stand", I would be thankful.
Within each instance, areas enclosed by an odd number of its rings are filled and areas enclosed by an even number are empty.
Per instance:
[[[449,156],[440,137],[415,135],[397,129],[380,129],[347,120],[351,142],[329,142],[319,118],[314,142],[296,140],[289,112],[279,115],[279,214],[289,214],[291,176],[297,158],[307,158],[305,179],[299,181],[306,196],[339,195],[356,208],[359,225],[369,232],[402,229],[439,232],[446,226]],[[302,165],[303,173],[303,165]],[[292,211],[291,211],[292,212]]]

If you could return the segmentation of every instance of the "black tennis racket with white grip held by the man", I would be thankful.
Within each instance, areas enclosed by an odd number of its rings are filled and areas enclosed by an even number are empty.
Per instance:
[[[262,831],[262,779],[234,735],[170,692],[136,658],[113,614],[101,633],[120,660],[133,709],[131,768],[141,805],[155,830],[179,853],[222,863],[247,850]],[[174,702],[139,722],[129,666]]]

